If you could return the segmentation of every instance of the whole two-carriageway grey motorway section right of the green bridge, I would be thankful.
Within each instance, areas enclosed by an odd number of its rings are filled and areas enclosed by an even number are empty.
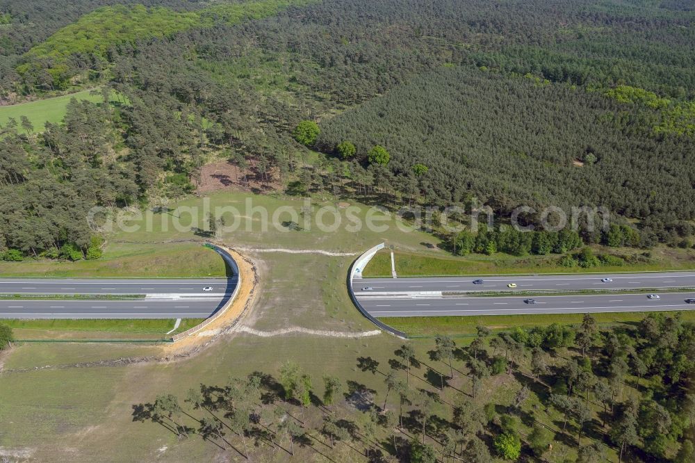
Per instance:
[[[601,282],[610,278],[612,282]],[[375,317],[466,316],[502,314],[582,314],[587,312],[673,311],[695,309],[695,272],[617,273],[600,275],[507,275],[480,277],[357,278],[353,288],[363,309]],[[509,289],[507,284],[516,288]],[[676,288],[688,292],[673,292]],[[635,290],[658,293],[649,300]],[[659,290],[663,291],[660,292]],[[475,292],[500,292],[493,297]],[[514,292],[551,291],[548,295]],[[572,295],[573,291],[578,291]],[[580,291],[611,291],[582,294]],[[626,291],[630,291],[626,293]],[[557,295],[553,295],[553,292]],[[526,304],[531,297],[536,304]]]

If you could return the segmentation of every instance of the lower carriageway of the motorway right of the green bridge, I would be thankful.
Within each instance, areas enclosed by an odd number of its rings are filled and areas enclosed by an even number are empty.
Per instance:
[[[660,293],[650,300],[644,294],[548,295],[534,296],[536,304],[526,304],[519,296],[505,297],[406,297],[357,294],[362,307],[375,317],[461,316],[510,314],[584,314],[587,312],[673,311],[695,309],[685,299],[691,293]]]

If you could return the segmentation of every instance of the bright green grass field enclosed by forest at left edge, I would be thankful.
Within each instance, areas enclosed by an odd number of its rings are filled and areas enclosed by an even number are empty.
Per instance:
[[[91,91],[92,90],[83,90],[82,92],[63,95],[62,97],[39,99],[27,103],[14,104],[12,106],[0,106],[0,125],[6,125],[10,117],[13,117],[17,121],[17,124],[19,124],[17,130],[20,133],[26,133],[19,120],[20,117],[26,116],[34,126],[35,132],[43,131],[46,122],[51,122],[51,124],[63,122],[63,117],[65,117],[65,113],[67,112],[67,104],[70,103],[70,99],[76,98],[93,102],[102,101],[100,93],[91,95]]]

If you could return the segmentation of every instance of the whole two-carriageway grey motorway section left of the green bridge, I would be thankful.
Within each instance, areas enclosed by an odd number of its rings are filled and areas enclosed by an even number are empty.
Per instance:
[[[0,294],[29,296],[0,300],[0,318],[207,318],[229,300],[230,279],[0,279]],[[203,291],[210,286],[212,291]],[[90,300],[51,295],[94,295]],[[36,300],[48,295],[46,300]],[[140,295],[129,300],[100,295]]]

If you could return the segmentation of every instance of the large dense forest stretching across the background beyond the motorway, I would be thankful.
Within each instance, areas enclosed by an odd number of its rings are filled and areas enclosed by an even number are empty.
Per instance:
[[[0,13],[3,103],[103,95],[42,133],[2,127],[0,250],[13,258],[86,255],[95,237],[76,218],[91,206],[181,197],[214,159],[382,204],[604,206],[638,234],[631,245],[692,246],[692,2],[8,1]],[[302,121],[314,136],[297,136]]]

